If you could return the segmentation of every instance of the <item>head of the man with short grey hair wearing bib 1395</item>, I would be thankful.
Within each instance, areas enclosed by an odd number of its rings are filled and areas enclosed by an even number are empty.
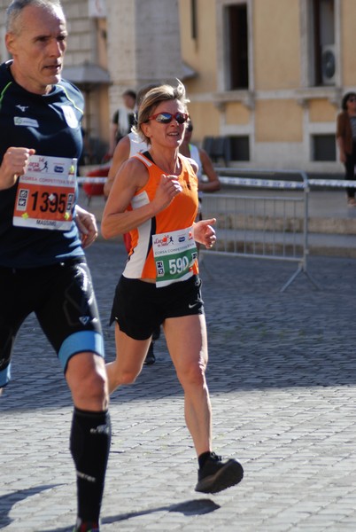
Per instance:
[[[24,89],[46,94],[60,81],[66,51],[66,19],[62,10],[28,5],[20,15],[19,33],[6,34],[12,75]]]

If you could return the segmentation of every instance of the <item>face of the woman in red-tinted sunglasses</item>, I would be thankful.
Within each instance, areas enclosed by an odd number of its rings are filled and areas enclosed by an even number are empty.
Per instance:
[[[186,113],[185,107],[177,100],[161,102],[153,111],[152,115],[159,113]],[[176,150],[182,144],[186,123],[179,123],[174,117],[168,123],[162,123],[155,119],[145,122],[142,126],[143,133],[150,138],[151,146],[172,148]]]

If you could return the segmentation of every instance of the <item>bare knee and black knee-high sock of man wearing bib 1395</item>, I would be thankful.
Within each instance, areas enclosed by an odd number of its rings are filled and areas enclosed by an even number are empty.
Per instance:
[[[98,530],[111,442],[104,359],[92,353],[73,356],[66,380],[74,399],[70,438],[77,473],[78,521],[74,530]]]

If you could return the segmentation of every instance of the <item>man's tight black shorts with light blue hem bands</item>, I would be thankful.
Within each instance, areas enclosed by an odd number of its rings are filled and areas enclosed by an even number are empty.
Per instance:
[[[0,293],[0,387],[10,379],[15,336],[31,312],[35,312],[64,371],[77,353],[104,356],[97,301],[83,257],[40,268],[0,267]],[[31,349],[29,339],[29,357],[35,356]]]

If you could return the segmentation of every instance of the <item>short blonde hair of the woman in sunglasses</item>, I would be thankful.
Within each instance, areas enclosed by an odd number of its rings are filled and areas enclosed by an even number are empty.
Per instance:
[[[176,86],[164,83],[163,85],[154,87],[144,96],[138,110],[137,124],[133,129],[147,144],[151,144],[151,141],[143,133],[142,125],[149,121],[150,116],[154,114],[155,109],[161,102],[169,100],[181,102],[184,106],[184,112],[187,112],[187,104],[190,100],[186,98],[185,87],[180,80],[177,80]]]

